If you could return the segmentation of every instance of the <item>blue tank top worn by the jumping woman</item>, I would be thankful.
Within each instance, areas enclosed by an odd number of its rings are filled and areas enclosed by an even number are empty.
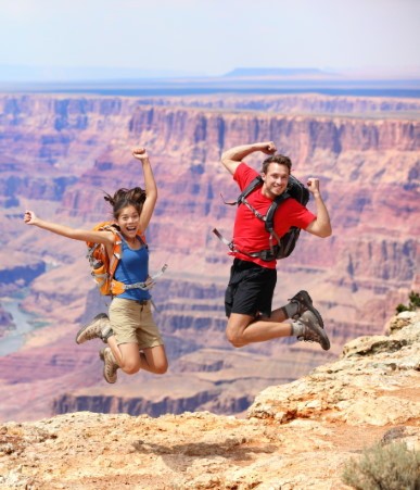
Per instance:
[[[118,262],[114,277],[119,282],[125,285],[132,285],[135,282],[144,282],[149,275],[149,250],[145,244],[139,250],[132,250],[123,238],[123,256]],[[150,300],[149,291],[139,288],[128,289],[118,298],[127,300]]]

